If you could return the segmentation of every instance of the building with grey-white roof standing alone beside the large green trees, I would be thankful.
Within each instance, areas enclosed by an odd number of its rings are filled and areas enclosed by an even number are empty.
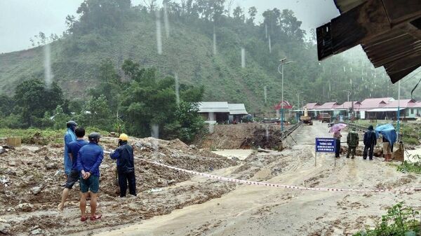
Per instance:
[[[248,115],[244,104],[228,102],[200,102],[199,113],[207,123],[240,123]]]

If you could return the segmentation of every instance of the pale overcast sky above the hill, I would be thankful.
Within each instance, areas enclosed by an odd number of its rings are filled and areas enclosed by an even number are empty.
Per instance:
[[[29,39],[44,32],[62,34],[66,15],[76,15],[83,0],[0,0],[0,53],[31,47]],[[142,0],[132,0],[138,5]],[[158,2],[161,2],[158,0]],[[339,15],[333,0],[236,0],[232,8],[258,8],[258,21],[267,9],[289,8],[302,21],[302,29],[309,30]]]

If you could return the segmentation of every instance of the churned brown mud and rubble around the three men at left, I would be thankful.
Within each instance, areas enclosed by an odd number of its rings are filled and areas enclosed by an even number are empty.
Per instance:
[[[116,143],[117,139],[110,137],[103,137],[100,141],[105,151],[116,148]],[[140,158],[198,172],[236,165],[234,160],[195,146],[187,146],[178,139],[131,139],[131,144],[135,151],[136,188],[139,196],[119,198],[119,188],[115,184],[116,164],[105,155],[100,165],[99,209],[108,216],[100,223],[88,227],[79,225],[79,222],[74,227],[62,223],[73,222],[74,218],[79,217],[78,183],[70,191],[66,214],[58,214],[56,211],[62,184],[65,183],[62,144],[24,145],[0,155],[0,222],[8,225],[5,232],[18,235],[35,230],[44,235],[62,235],[131,223],[140,218],[168,214],[173,209],[220,197],[234,188],[229,183],[175,186],[192,176],[152,165]],[[34,225],[37,227],[34,228]]]

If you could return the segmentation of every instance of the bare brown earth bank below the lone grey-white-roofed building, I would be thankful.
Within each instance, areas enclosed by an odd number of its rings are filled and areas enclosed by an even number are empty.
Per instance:
[[[276,148],[280,145],[279,125],[245,123],[236,125],[215,125],[213,133],[203,139],[201,148],[239,149],[239,148]]]

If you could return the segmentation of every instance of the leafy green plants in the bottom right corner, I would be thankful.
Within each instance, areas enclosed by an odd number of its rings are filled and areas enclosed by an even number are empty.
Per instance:
[[[374,229],[361,230],[353,236],[416,236],[420,232],[420,212],[399,202],[387,210]]]

